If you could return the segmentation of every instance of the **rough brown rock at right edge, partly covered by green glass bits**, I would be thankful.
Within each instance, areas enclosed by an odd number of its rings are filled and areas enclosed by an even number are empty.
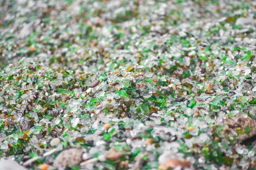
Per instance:
[[[256,121],[249,116],[247,116],[247,118],[244,116],[237,116],[234,119],[224,119],[224,124],[226,125],[224,136],[237,136],[238,142],[242,142],[256,135]],[[250,131],[246,132],[246,128],[250,128]]]

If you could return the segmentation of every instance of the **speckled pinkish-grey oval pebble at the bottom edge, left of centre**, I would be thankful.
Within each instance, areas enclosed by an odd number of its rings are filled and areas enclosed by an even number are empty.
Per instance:
[[[82,161],[82,155],[83,153],[76,148],[64,150],[56,157],[53,166],[56,168],[72,167]]]

